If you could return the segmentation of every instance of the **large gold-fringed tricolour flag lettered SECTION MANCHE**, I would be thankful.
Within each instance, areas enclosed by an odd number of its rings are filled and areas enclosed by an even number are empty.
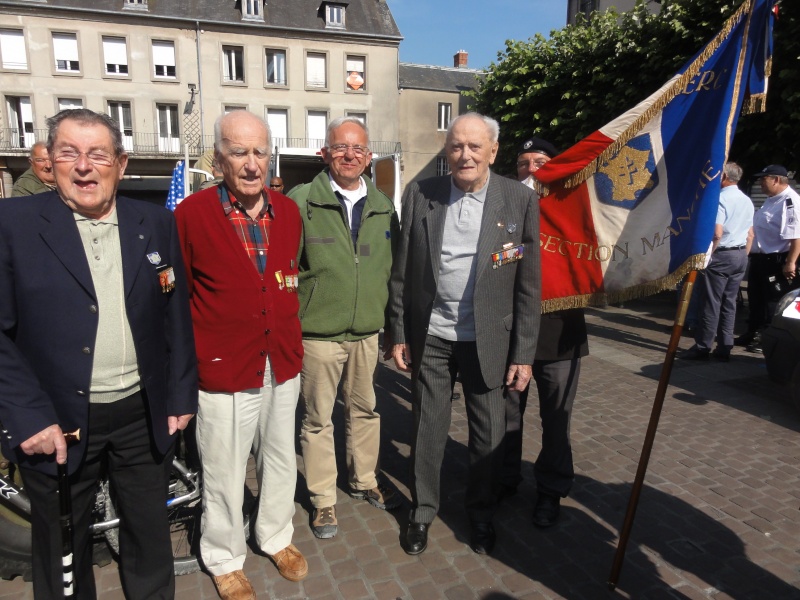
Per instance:
[[[763,110],[775,0],[746,0],[657,92],[536,172],[544,312],[702,268],[741,112]]]

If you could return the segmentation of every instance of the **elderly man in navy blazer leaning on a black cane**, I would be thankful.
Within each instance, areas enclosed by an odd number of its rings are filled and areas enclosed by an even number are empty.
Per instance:
[[[166,209],[117,196],[114,121],[73,109],[48,128],[56,191],[0,201],[0,421],[31,500],[34,595],[63,595],[55,473],[69,457],[76,596],[96,595],[89,525],[107,470],[125,596],[172,598],[167,478],[197,407],[177,230]]]

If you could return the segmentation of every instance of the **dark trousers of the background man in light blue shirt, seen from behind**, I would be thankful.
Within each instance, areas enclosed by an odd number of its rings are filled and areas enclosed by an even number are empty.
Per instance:
[[[733,348],[736,298],[746,269],[744,248],[718,249],[711,257],[703,278],[700,326],[694,338],[700,350],[711,350],[715,336],[719,352],[727,354]]]

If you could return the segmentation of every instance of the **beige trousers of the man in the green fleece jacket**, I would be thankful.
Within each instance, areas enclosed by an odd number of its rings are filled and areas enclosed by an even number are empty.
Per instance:
[[[336,450],[333,406],[339,380],[344,400],[348,481],[356,490],[378,485],[381,418],[375,412],[378,335],[357,342],[303,340],[302,397],[305,416],[300,433],[306,483],[316,508],[336,504]]]

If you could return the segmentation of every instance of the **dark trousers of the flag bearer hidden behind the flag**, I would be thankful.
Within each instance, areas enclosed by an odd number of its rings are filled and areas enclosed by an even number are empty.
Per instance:
[[[580,358],[533,362],[533,379],[542,420],[542,447],[533,471],[536,487],[540,492],[562,498],[569,494],[575,479],[569,433],[580,374]],[[530,389],[528,386],[520,394],[509,393],[506,396],[506,433],[500,483],[514,488],[522,481],[522,424]]]

